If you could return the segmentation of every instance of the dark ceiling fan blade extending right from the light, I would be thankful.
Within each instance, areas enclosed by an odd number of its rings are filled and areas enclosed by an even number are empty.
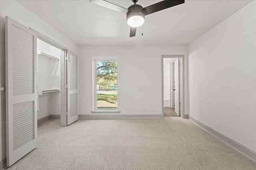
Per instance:
[[[163,0],[161,2],[158,2],[156,4],[147,6],[145,8],[142,8],[142,12],[146,15],[152,14],[154,12],[158,12],[160,10],[164,10],[166,8],[170,8],[172,6],[183,4],[185,0]]]

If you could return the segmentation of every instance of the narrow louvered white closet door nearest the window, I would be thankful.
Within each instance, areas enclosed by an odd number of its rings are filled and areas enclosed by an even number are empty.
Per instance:
[[[68,52],[68,117],[67,125],[78,120],[78,57]]]

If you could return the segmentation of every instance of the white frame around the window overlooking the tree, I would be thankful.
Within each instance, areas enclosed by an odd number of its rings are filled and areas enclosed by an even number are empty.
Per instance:
[[[93,111],[119,111],[119,106],[118,106],[118,100],[119,100],[119,63],[118,63],[118,57],[93,57],[92,58],[92,78],[93,78],[93,102],[92,102],[92,108]],[[117,108],[97,108],[97,70],[96,70],[96,62],[97,61],[103,61],[103,62],[111,62],[111,61],[116,61],[117,62]],[[111,89],[114,90],[114,89]],[[106,90],[107,91],[107,90]]]

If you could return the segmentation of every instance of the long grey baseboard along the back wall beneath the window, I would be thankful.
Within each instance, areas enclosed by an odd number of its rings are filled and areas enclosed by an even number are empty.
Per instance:
[[[106,115],[106,114],[91,114],[91,115],[78,115],[79,119],[112,119],[112,118],[162,118],[159,115]]]

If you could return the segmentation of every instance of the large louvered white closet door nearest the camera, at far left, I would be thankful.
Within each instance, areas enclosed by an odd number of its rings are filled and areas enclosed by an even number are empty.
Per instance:
[[[5,19],[6,159],[11,166],[37,145],[36,34]]]

